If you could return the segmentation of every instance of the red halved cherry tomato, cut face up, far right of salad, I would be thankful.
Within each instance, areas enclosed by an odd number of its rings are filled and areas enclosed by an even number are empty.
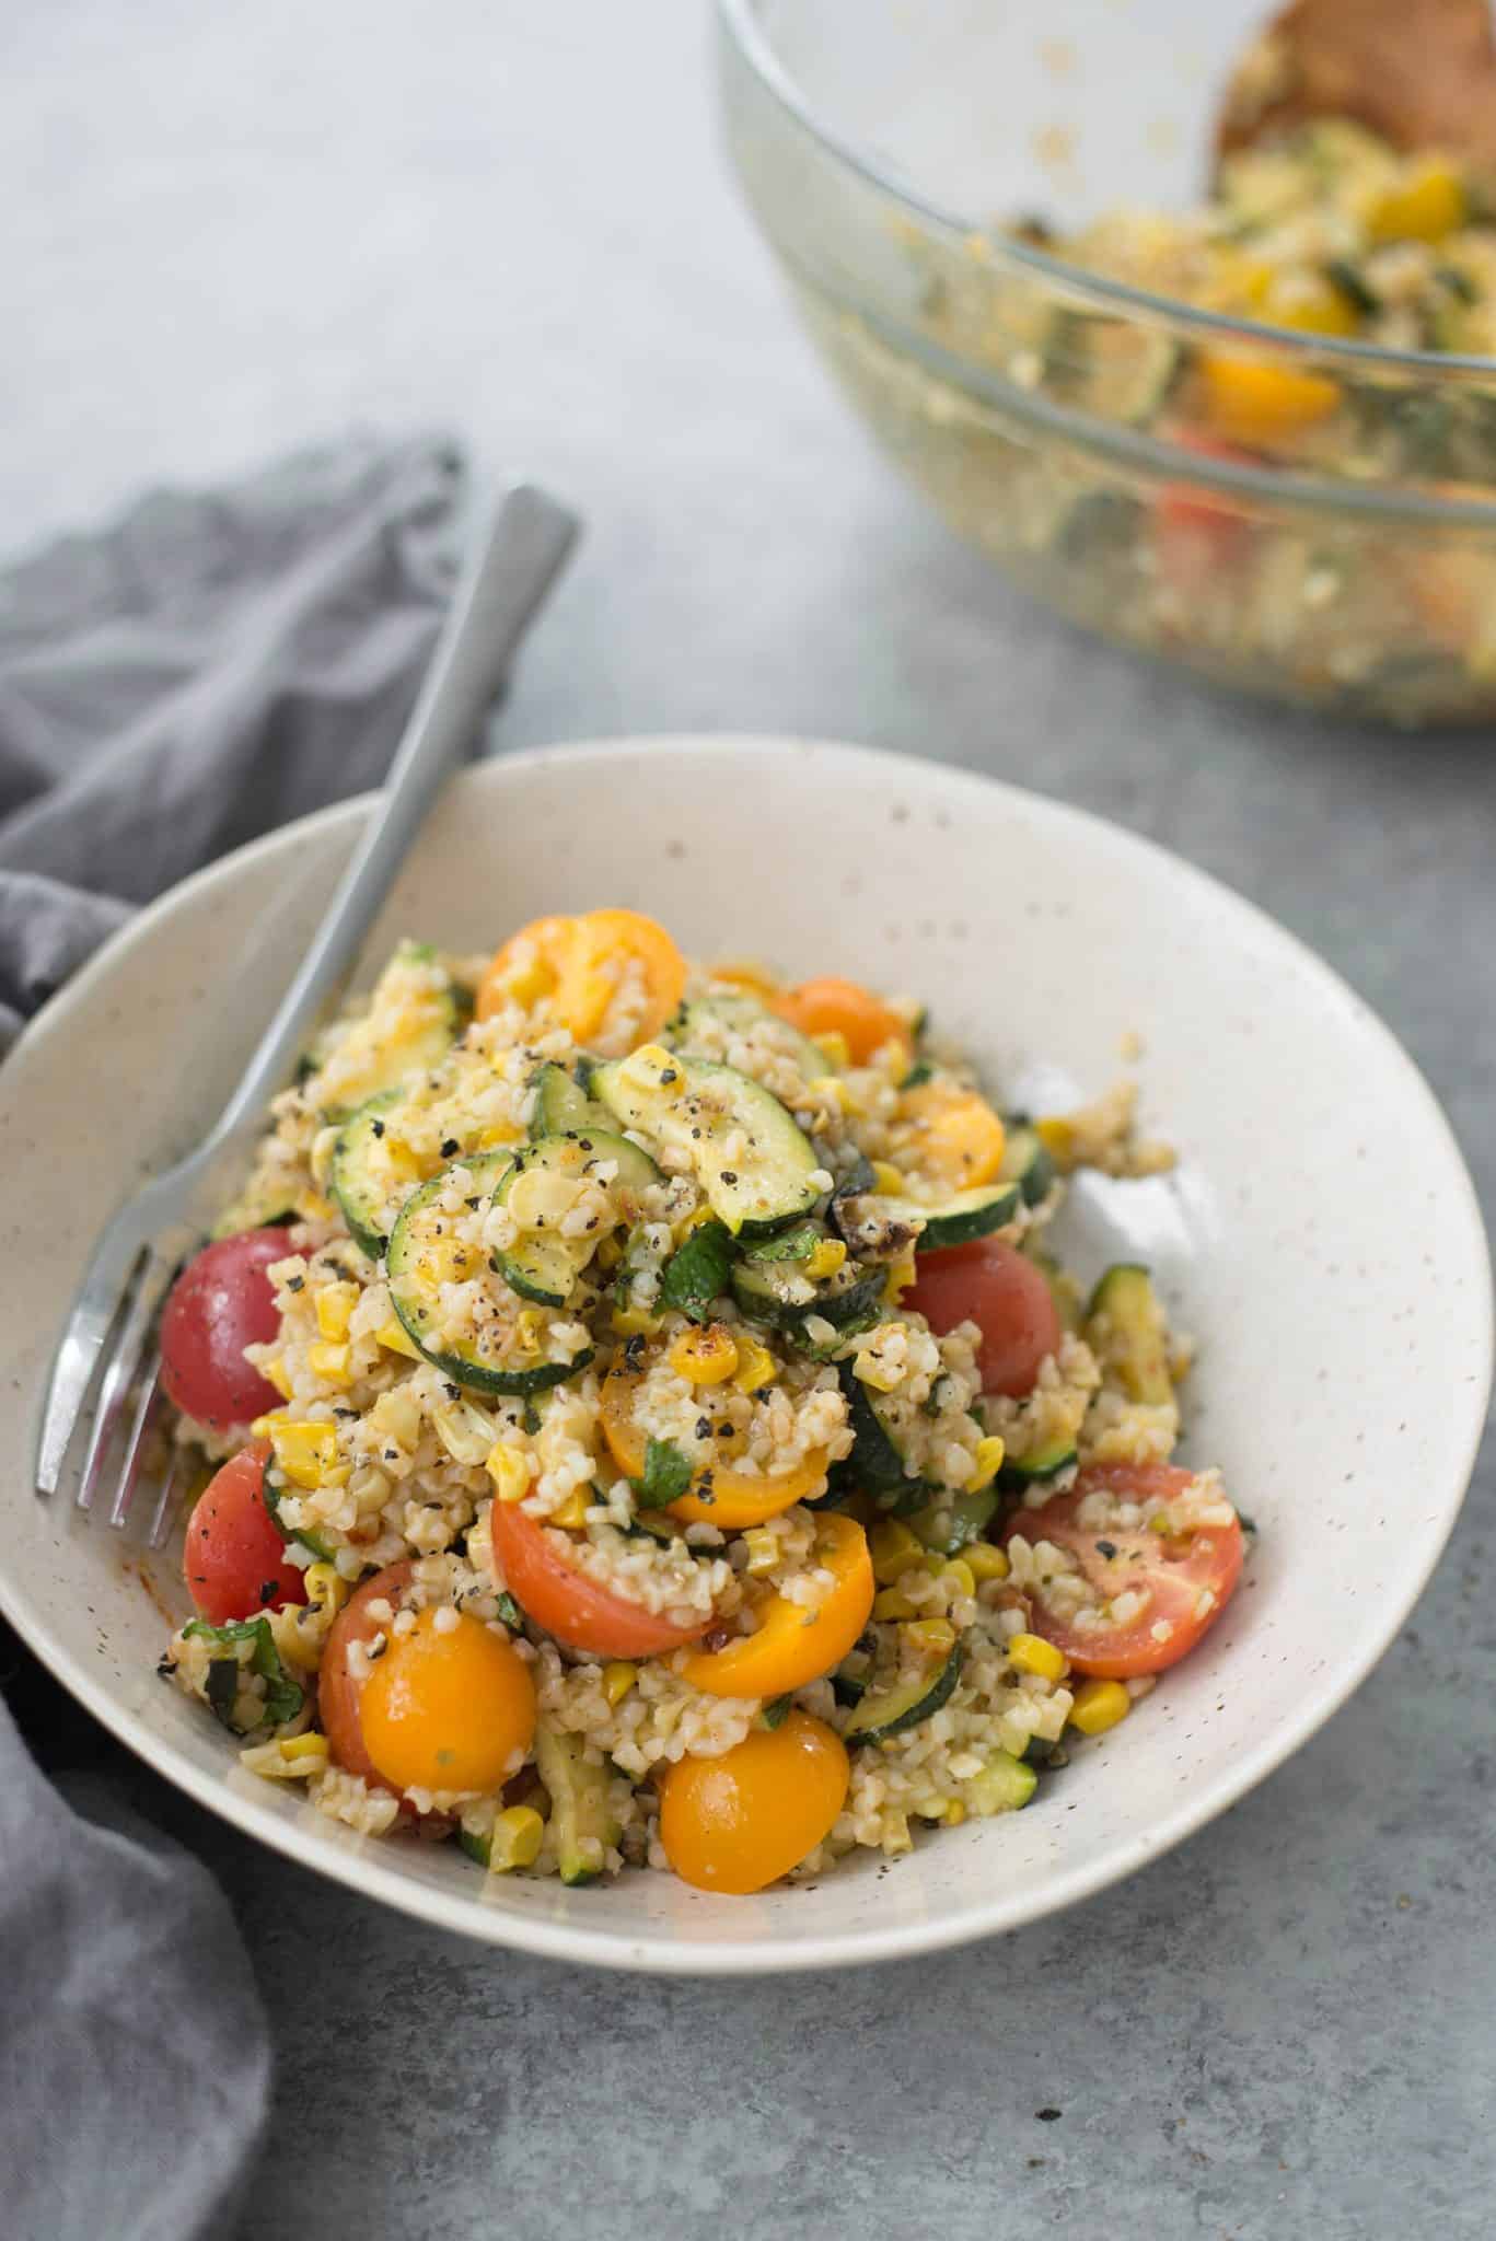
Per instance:
[[[1021,1533],[1025,1542],[1047,1540],[1068,1549],[1097,1591],[1090,1609],[1099,1618],[1081,1627],[1074,1616],[1059,1614],[1043,1587],[1029,1589],[1034,1631],[1063,1649],[1077,1672],[1128,1681],[1178,1665],[1231,1600],[1243,1569],[1243,1528],[1236,1519],[1229,1526],[1169,1535],[1137,1526],[1081,1526],[1077,1517],[1086,1495],[1108,1493],[1117,1501],[1148,1501],[1157,1495],[1171,1501],[1189,1484],[1189,1470],[1173,1463],[1095,1463],[1068,1495],[1009,1519],[1005,1540]],[[1112,1618],[1117,1600],[1128,1593],[1142,1598],[1137,1611]]]

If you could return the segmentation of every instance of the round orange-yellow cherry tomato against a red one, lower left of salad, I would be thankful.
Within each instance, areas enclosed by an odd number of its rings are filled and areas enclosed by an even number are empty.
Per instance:
[[[529,1665],[471,1611],[449,1629],[437,1618],[417,1611],[375,1663],[359,1696],[363,1748],[399,1791],[496,1791],[536,1732]]]

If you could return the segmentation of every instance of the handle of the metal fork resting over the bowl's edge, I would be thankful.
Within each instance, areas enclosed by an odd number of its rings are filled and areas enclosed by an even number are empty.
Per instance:
[[[292,986],[280,997],[209,1147],[233,1138],[285,1087],[307,1031],[348,979],[444,778],[473,740],[514,652],[576,538],[576,515],[509,484],[473,540],[384,791]]]

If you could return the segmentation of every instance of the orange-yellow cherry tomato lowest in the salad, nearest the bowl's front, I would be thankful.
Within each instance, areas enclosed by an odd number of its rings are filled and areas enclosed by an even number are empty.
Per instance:
[[[677,1759],[659,1795],[659,1842],[700,1891],[763,1891],[830,1835],[846,1793],[841,1737],[789,1712],[720,1759]]]

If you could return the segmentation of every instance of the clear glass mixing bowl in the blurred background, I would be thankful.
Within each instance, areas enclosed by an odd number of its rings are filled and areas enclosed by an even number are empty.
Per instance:
[[[996,231],[1195,202],[1216,90],[1260,16],[720,0],[727,139],[832,372],[1025,589],[1229,686],[1485,719],[1496,361],[1227,318]],[[1207,354],[1332,383],[1332,410],[1225,455],[1191,426]]]

